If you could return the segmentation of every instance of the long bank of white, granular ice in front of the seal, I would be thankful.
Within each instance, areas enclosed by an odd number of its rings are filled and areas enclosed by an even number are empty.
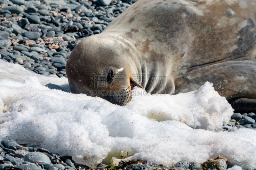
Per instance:
[[[0,140],[38,144],[91,167],[134,158],[165,165],[181,159],[202,163],[218,155],[256,165],[256,131],[220,130],[233,109],[208,82],[173,96],[141,95],[135,89],[125,107],[51,90],[44,86],[48,83],[67,88],[68,79],[0,60]]]

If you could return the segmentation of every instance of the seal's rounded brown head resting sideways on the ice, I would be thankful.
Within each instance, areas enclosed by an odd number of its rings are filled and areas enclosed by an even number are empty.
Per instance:
[[[142,88],[136,81],[138,70],[128,51],[116,38],[102,34],[81,41],[66,65],[71,92],[98,96],[124,106],[132,99],[133,87]]]

